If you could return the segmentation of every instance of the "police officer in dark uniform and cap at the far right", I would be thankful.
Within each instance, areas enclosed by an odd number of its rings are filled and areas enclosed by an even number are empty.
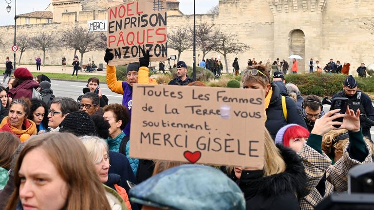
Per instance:
[[[366,115],[370,120],[374,120],[374,107],[372,100],[368,95],[363,93],[361,90],[357,90],[357,83],[352,75],[349,75],[343,83],[343,91],[338,92],[333,96],[334,98],[348,98],[349,106],[355,111],[360,109],[361,113]],[[370,140],[370,128],[372,127],[366,122],[365,118],[360,117],[360,126],[362,129],[362,134],[368,137]]]

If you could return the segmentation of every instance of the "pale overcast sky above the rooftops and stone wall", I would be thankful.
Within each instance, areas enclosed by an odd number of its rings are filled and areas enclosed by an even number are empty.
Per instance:
[[[9,1],[9,0],[8,0]],[[17,0],[17,15],[37,10],[45,10],[51,0]],[[193,0],[179,0],[179,9],[186,15],[193,14]],[[204,14],[218,4],[218,0],[196,0],[196,14]],[[0,0],[0,25],[14,25],[14,0],[12,10],[6,12],[8,4]]]

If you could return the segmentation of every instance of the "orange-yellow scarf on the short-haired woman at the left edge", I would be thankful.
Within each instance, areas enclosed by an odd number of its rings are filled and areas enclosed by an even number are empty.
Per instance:
[[[28,134],[30,136],[37,134],[37,126],[33,121],[25,119],[23,121],[23,124],[25,125],[26,129],[25,130],[18,129],[9,123],[9,117],[4,117],[4,119],[2,120],[0,124],[0,132],[7,131],[7,132],[17,135],[18,138],[22,136],[23,134]]]

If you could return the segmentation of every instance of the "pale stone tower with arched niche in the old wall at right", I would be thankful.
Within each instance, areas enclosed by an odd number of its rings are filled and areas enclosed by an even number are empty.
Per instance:
[[[305,71],[310,58],[320,57],[326,0],[268,0],[268,3],[274,16],[275,57],[298,54],[303,58],[299,61],[299,71]]]

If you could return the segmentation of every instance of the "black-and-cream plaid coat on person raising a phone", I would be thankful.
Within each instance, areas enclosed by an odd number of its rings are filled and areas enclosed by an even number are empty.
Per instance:
[[[372,152],[369,145],[366,144],[366,149],[369,155],[363,162],[359,162],[349,157],[347,151],[348,145],[344,148],[343,157],[341,157],[334,165],[331,165],[330,158],[323,153],[319,154],[312,147],[304,143],[299,156],[303,159],[306,177],[308,182],[306,184],[306,191],[310,193],[299,199],[301,210],[313,210],[324,198],[328,197],[333,192],[343,192],[348,190],[348,171],[356,164],[372,162]],[[316,189],[319,181],[326,173],[326,190],[322,197]]]

